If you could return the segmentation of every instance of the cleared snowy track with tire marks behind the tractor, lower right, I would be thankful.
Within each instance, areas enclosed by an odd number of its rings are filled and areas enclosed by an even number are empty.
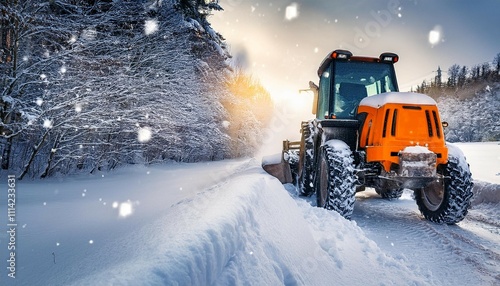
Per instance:
[[[382,200],[374,192],[358,194],[353,220],[367,236],[395,257],[409,260],[445,285],[500,283],[498,234],[484,236],[471,222],[457,226],[423,220],[414,200]],[[477,225],[477,224],[476,224]]]

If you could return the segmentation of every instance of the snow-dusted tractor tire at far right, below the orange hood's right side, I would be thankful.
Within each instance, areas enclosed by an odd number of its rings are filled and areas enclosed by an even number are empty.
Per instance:
[[[467,215],[472,198],[472,175],[462,152],[450,153],[441,173],[445,179],[416,190],[415,200],[427,220],[455,224]]]

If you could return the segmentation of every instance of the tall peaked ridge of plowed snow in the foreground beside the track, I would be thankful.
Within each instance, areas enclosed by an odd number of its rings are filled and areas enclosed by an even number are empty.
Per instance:
[[[354,222],[292,199],[258,166],[145,226],[133,260],[76,284],[428,284]],[[359,275],[363,273],[363,275]]]

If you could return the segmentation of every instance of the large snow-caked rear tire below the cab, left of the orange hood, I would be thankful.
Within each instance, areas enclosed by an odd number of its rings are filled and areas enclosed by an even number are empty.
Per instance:
[[[328,141],[320,152],[316,178],[318,207],[350,219],[354,210],[356,175],[352,152],[342,141]]]

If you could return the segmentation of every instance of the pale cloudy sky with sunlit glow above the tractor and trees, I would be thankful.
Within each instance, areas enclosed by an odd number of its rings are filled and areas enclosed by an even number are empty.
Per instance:
[[[472,67],[500,53],[500,0],[221,0],[209,18],[239,67],[287,97],[318,82],[327,54],[400,56],[399,87],[409,91],[438,66]],[[444,73],[446,76],[446,73]]]

